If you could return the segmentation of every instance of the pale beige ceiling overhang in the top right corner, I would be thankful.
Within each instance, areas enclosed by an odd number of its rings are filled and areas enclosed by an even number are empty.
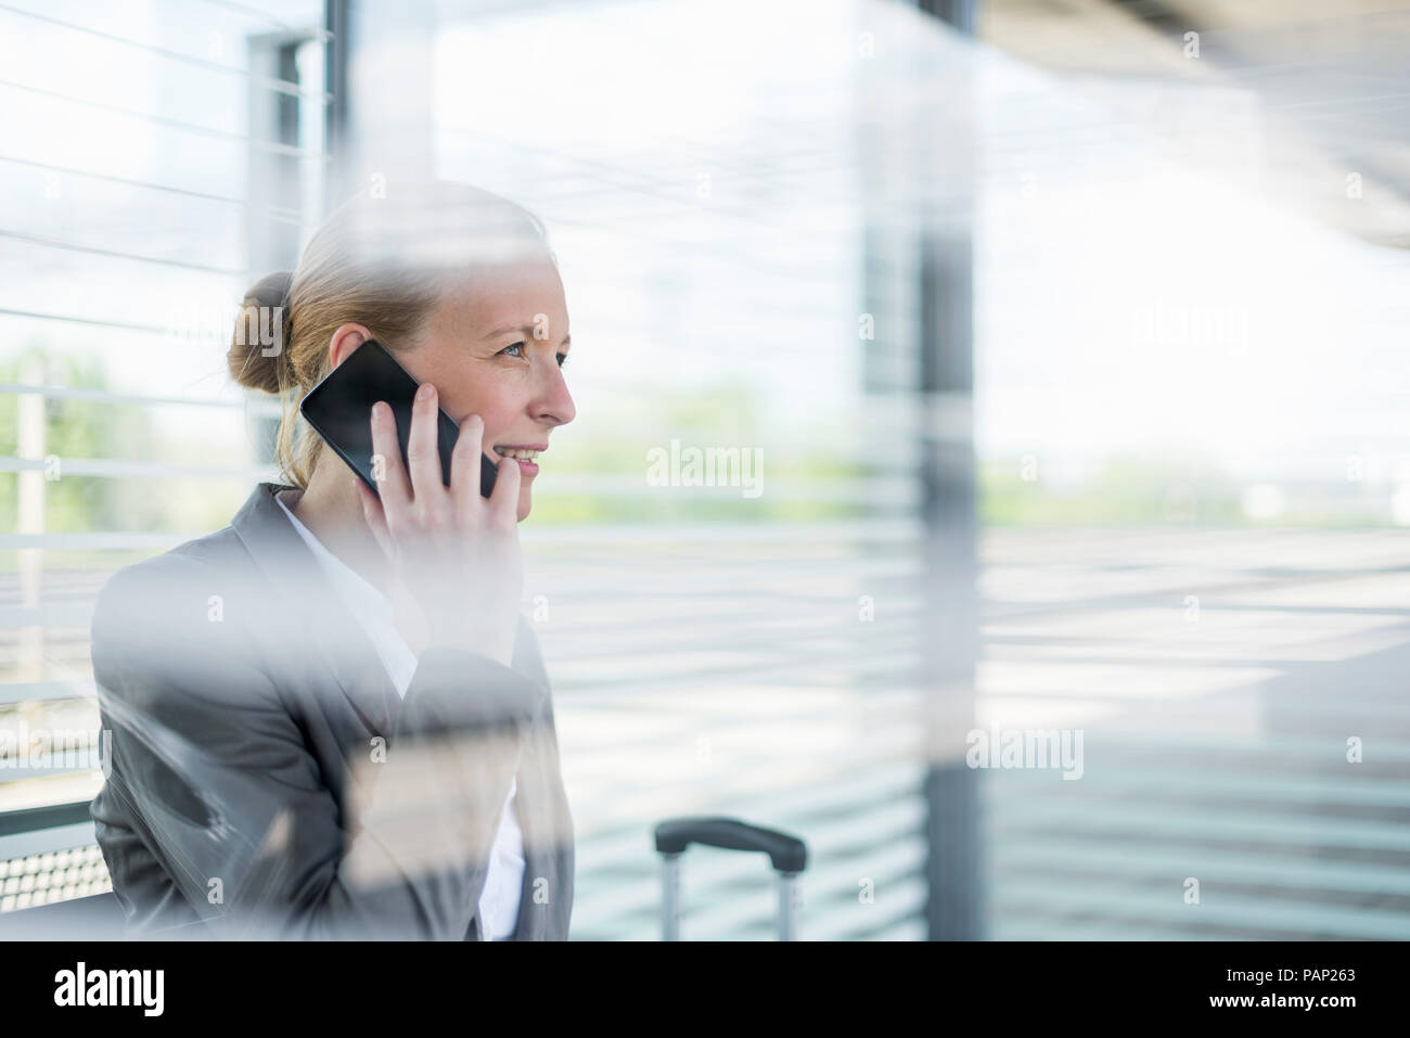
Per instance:
[[[979,0],[977,34],[1073,79],[1173,79],[1252,103],[1268,192],[1410,247],[1410,0]]]

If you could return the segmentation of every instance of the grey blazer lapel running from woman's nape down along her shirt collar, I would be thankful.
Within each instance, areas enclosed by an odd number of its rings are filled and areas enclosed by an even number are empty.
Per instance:
[[[295,628],[283,632],[292,645],[307,637],[337,678],[368,731],[389,733],[399,702],[396,688],[361,636],[358,621],[336,595],[289,516],[274,495],[298,489],[285,484],[261,482],[231,520],[255,563],[290,608]]]

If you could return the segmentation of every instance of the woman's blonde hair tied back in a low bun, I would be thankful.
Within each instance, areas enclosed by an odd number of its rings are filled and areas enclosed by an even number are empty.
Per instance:
[[[334,212],[296,269],[245,292],[226,355],[240,385],[281,398],[276,456],[285,478],[307,488],[321,454],[321,437],[299,422],[299,403],[329,374],[338,327],[362,324],[396,353],[419,340],[450,283],[477,268],[543,257],[554,260],[537,217],[464,183],[362,192]]]

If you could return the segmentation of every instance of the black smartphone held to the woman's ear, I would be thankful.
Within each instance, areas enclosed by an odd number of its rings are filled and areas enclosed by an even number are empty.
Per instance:
[[[412,401],[419,385],[385,346],[369,338],[305,395],[299,413],[376,494],[372,478],[372,405],[386,401],[392,409],[405,468],[406,444],[412,436]],[[441,484],[450,487],[450,456],[460,437],[460,426],[444,409],[437,410]],[[486,498],[495,488],[498,474],[495,463],[481,451],[479,492]]]

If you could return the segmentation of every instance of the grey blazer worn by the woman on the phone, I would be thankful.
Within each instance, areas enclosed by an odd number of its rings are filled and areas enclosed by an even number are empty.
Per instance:
[[[431,646],[405,700],[262,482],[230,526],[118,570],[93,613],[93,800],[130,936],[484,941],[499,815],[512,939],[567,939],[572,819],[548,677]]]

